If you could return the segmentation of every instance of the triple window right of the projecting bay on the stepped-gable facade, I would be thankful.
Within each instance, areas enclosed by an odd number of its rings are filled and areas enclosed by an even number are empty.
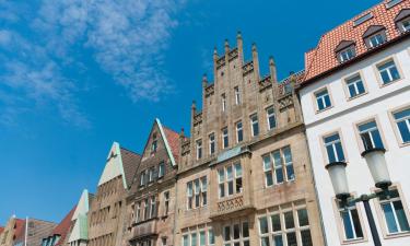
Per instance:
[[[295,179],[290,147],[262,156],[266,187]]]

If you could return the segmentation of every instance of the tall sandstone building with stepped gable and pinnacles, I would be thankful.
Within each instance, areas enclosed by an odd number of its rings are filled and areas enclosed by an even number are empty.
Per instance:
[[[175,245],[324,245],[292,89],[303,74],[278,83],[271,58],[261,78],[256,45],[245,62],[241,34],[224,49],[214,51],[214,82],[202,79],[202,110],[192,104],[190,139],[180,140]]]

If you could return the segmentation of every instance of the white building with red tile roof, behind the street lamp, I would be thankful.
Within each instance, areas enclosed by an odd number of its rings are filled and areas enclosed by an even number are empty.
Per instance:
[[[347,163],[351,195],[379,191],[361,153],[386,150],[390,198],[370,201],[382,245],[410,245],[410,1],[384,1],[306,54],[298,94],[327,245],[374,245],[362,202],[340,206],[326,165]]]

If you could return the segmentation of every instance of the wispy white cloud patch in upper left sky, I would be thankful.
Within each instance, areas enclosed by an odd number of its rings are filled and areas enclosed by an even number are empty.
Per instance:
[[[0,92],[7,89],[8,94],[23,94],[25,102],[55,105],[63,119],[87,125],[75,101],[81,81],[65,73],[86,67],[79,60],[79,52],[86,50],[133,102],[159,101],[173,91],[163,69],[164,51],[184,4],[184,0],[42,0],[38,8],[23,8],[0,0],[0,9],[8,10],[0,16],[8,23],[0,30]],[[27,9],[26,19],[19,17]],[[26,30],[16,28],[16,22]],[[3,101],[9,107],[19,104]]]

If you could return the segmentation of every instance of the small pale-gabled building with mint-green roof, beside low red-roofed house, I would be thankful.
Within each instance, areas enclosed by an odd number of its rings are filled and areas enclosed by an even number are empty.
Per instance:
[[[69,246],[85,246],[89,242],[89,211],[94,196],[84,189],[71,216],[70,232],[67,235]]]

